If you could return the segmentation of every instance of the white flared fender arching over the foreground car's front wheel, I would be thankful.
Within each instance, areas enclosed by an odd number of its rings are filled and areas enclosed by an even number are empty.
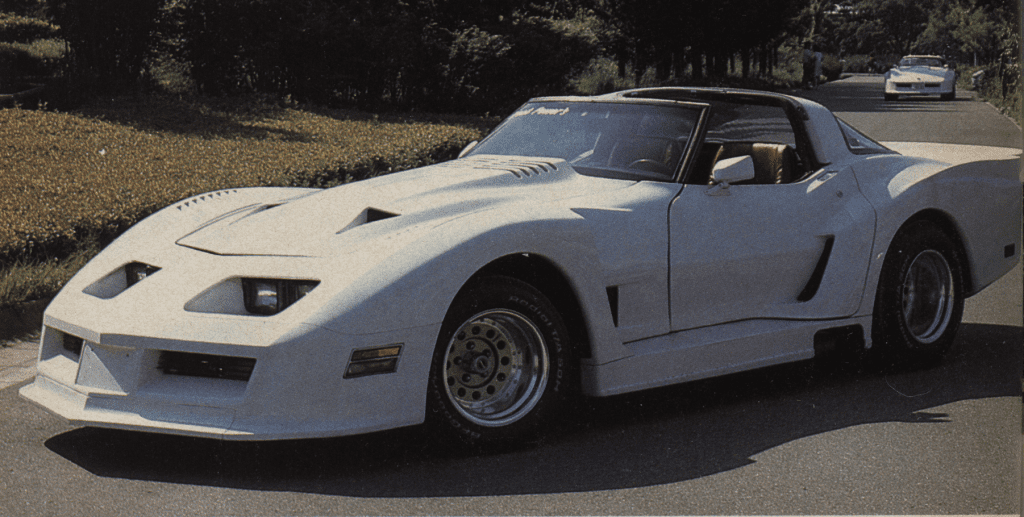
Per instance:
[[[373,334],[439,324],[474,274],[516,254],[538,255],[562,272],[580,302],[592,343],[614,339],[590,223],[570,210],[544,207],[511,220],[474,214],[424,232],[341,294],[339,301],[346,300],[352,310],[330,319],[322,316],[316,325],[344,334]],[[353,298],[354,293],[360,295]]]

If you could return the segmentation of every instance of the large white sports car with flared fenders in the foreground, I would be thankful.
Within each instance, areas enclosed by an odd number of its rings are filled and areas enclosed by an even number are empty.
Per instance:
[[[452,162],[156,213],[49,305],[20,393],[88,426],[475,446],[580,394],[936,357],[1020,260],[1019,153],[883,146],[763,92],[538,98]]]

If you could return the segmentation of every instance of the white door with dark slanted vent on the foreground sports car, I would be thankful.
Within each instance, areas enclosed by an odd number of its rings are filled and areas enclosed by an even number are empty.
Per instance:
[[[849,167],[715,190],[686,185],[670,208],[673,331],[857,310],[874,216]]]

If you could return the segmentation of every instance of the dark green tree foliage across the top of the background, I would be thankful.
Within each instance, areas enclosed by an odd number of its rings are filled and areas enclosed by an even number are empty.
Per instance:
[[[60,27],[86,89],[145,86],[170,58],[204,94],[472,112],[569,92],[597,58],[635,84],[715,82],[737,59],[770,75],[780,46],[805,41],[862,61],[991,61],[1019,32],[1017,1],[0,0]]]

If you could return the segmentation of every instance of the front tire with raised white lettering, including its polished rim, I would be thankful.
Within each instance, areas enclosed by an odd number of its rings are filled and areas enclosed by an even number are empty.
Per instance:
[[[575,390],[570,346],[561,315],[528,284],[487,276],[466,286],[437,339],[428,425],[472,449],[535,439]]]

